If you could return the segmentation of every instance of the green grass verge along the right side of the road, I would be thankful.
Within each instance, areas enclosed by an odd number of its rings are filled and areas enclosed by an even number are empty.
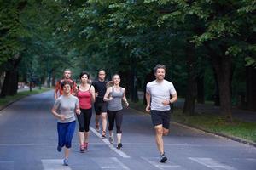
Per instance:
[[[138,111],[145,111],[145,105],[142,101],[131,103],[130,106]],[[243,122],[237,119],[234,119],[233,122],[226,122],[224,116],[212,116],[207,113],[187,116],[183,114],[181,109],[175,109],[172,114],[172,121],[198,127],[207,132],[256,142],[256,122]]]

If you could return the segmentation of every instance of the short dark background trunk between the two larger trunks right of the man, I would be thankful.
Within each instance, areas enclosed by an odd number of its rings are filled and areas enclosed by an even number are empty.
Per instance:
[[[205,82],[205,77],[203,73],[201,73],[201,75],[196,77],[196,91],[197,91],[196,100],[197,100],[197,103],[199,104],[205,103],[205,83],[204,82]]]

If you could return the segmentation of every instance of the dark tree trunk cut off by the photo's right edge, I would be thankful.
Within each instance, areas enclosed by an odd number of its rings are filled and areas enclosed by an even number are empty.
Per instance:
[[[247,66],[247,109],[256,111],[256,69]]]

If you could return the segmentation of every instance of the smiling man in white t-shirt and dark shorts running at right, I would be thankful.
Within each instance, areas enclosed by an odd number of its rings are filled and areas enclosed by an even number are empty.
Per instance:
[[[169,133],[170,104],[177,101],[177,92],[172,82],[166,81],[166,66],[156,65],[154,67],[155,80],[148,82],[146,88],[146,111],[150,112],[155,130],[155,140],[160,151],[160,162],[167,161],[164,151],[163,135]],[[171,98],[172,96],[172,98]]]

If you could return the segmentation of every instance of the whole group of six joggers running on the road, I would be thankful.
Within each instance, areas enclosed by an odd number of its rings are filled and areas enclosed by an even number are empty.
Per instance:
[[[91,82],[90,74],[82,71],[79,75],[79,85],[73,81],[71,74],[72,72],[66,69],[64,71],[64,78],[56,82],[55,104],[51,110],[57,118],[57,150],[61,152],[62,148],[64,148],[63,165],[65,166],[68,166],[68,156],[72,145],[76,120],[79,122],[80,152],[83,153],[85,150],[88,150],[92,105],[94,105],[96,112],[96,131],[100,132],[102,129],[102,138],[106,138],[108,124],[108,138],[109,142],[113,144],[113,127],[115,123],[116,148],[121,149],[123,147],[121,142],[123,104],[126,107],[129,106],[125,97],[125,88],[120,87],[120,77],[118,74],[113,75],[112,81],[107,82],[105,80],[106,72],[100,70],[98,71],[96,82]],[[166,162],[167,160],[162,136],[167,135],[169,132],[170,104],[177,100],[175,88],[172,82],[164,79],[165,74],[165,65],[156,65],[154,68],[155,80],[148,82],[146,90],[146,111],[151,114],[155,129],[155,140],[160,151],[160,162]]]

